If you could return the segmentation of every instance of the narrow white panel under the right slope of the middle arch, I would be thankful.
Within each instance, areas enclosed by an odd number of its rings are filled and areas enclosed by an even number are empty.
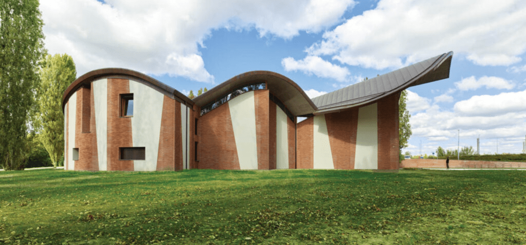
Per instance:
[[[287,114],[276,106],[276,169],[289,168]]]

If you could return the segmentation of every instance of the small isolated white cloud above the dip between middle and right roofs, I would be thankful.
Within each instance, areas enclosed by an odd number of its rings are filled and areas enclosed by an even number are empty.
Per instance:
[[[281,60],[281,65],[286,71],[302,71],[309,76],[314,74],[320,78],[331,78],[339,82],[348,81],[349,69],[340,67],[323,60],[318,56],[307,56],[302,60],[287,57]]]

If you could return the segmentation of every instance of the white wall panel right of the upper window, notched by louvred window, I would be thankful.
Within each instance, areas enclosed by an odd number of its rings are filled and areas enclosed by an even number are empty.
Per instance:
[[[146,159],[135,160],[134,171],[156,171],[164,94],[133,80],[129,81],[129,87],[134,103],[131,118],[133,146],[146,147]]]

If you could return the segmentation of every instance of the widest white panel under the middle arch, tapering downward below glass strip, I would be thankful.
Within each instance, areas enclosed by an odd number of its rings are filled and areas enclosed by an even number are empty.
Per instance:
[[[254,91],[238,95],[228,101],[241,169],[258,169],[254,104]]]

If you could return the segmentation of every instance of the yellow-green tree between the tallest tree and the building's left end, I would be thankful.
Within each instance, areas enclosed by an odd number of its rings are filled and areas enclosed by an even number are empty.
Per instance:
[[[33,126],[38,133],[38,141],[49,153],[51,162],[56,167],[64,154],[62,95],[77,77],[75,62],[67,54],[47,55],[41,62],[38,74],[41,82],[36,86],[37,102]]]

